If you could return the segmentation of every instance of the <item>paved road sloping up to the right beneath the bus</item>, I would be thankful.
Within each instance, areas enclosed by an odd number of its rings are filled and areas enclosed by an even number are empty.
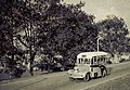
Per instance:
[[[27,79],[0,85],[0,90],[83,90],[130,74],[130,62],[110,65],[110,75],[104,78],[69,81],[67,72],[39,75]]]

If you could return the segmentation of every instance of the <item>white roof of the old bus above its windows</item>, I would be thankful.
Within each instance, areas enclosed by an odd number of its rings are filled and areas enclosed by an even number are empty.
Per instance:
[[[93,56],[100,56],[100,55],[108,55],[106,52],[81,52],[77,55],[77,59],[80,57],[87,57],[87,59],[92,59]]]

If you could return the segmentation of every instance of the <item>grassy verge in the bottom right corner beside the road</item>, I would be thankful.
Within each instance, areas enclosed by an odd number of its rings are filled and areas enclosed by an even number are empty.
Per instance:
[[[130,90],[130,75],[107,81],[86,90]]]

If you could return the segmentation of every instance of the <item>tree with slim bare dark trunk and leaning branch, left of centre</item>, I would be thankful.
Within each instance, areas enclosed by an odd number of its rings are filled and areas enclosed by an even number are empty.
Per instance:
[[[24,36],[18,35],[17,39],[29,50],[30,74],[34,75],[34,60],[37,51],[41,47],[37,44],[39,40],[39,28],[42,25],[42,20],[46,20],[46,12],[52,4],[56,4],[58,0],[23,0],[23,8],[20,9],[20,13],[23,16],[24,24],[21,29],[24,29]],[[41,38],[43,40],[43,38]]]

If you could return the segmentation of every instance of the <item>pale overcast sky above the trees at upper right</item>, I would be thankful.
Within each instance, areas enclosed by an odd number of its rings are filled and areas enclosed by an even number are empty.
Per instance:
[[[122,17],[130,29],[130,0],[64,0],[65,3],[84,1],[82,8],[88,14],[94,14],[95,21],[103,20],[106,15]]]

